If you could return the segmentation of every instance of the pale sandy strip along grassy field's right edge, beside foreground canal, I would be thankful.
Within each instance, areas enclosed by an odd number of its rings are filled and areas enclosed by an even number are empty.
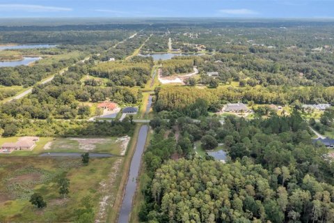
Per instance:
[[[100,192],[103,194],[102,199],[100,199],[100,208],[97,213],[97,219],[95,223],[106,222],[106,215],[109,210],[109,206],[113,206],[113,203],[116,198],[116,194],[112,194],[111,190],[113,189],[113,184],[115,183],[115,179],[118,176],[118,171],[120,164],[122,163],[122,159],[116,160],[115,164],[110,170],[109,176],[107,180],[103,180],[100,183]],[[111,195],[112,194],[112,195]]]

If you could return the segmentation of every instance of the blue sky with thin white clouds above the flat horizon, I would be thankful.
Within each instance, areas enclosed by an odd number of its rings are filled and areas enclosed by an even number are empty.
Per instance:
[[[0,0],[0,17],[334,18],[334,0]]]

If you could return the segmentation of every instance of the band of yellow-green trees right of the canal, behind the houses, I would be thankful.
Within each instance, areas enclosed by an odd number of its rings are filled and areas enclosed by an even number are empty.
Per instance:
[[[163,86],[155,90],[157,102],[154,109],[182,111],[198,98],[204,99],[212,111],[227,102],[255,102],[257,104],[296,105],[324,103],[334,104],[334,89],[331,87],[287,86],[219,86],[217,89],[200,89],[189,86]]]

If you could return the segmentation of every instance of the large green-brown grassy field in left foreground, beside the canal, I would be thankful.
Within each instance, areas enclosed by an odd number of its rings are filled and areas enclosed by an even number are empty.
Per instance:
[[[90,196],[95,218],[104,222],[118,191],[115,183],[122,173],[122,159],[90,159],[83,166],[80,159],[66,157],[0,157],[0,222],[72,222],[86,196]],[[58,194],[59,176],[70,179],[65,199]],[[29,203],[33,192],[42,194],[47,208],[38,210]]]

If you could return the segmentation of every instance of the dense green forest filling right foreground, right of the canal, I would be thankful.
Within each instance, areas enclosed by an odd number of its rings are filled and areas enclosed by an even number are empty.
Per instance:
[[[164,111],[150,123],[155,134],[144,156],[142,221],[333,221],[333,164],[326,148],[311,143],[299,112],[251,121],[229,116],[221,124],[205,117],[205,101],[191,106],[199,121]],[[231,160],[198,157],[198,140],[222,142]]]

